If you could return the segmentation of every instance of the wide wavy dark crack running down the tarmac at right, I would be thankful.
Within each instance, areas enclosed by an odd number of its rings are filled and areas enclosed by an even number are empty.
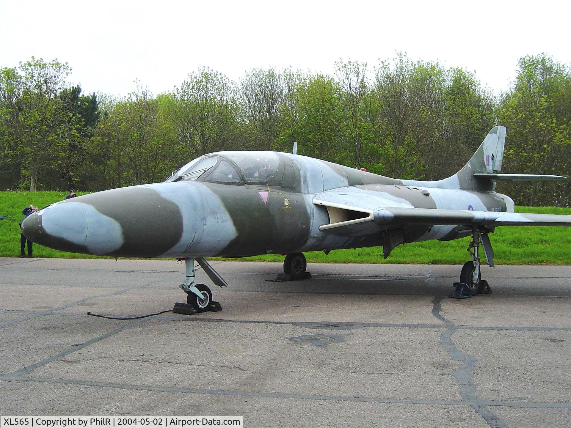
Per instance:
[[[446,327],[444,332],[440,333],[440,344],[453,361],[464,361],[463,365],[450,372],[450,374],[453,375],[459,383],[460,396],[464,401],[471,402],[472,409],[474,409],[490,427],[507,428],[508,426],[500,419],[500,417],[490,411],[486,405],[482,403],[483,400],[480,400],[480,397],[478,397],[476,386],[474,385],[474,381],[470,373],[472,369],[476,367],[478,360],[476,357],[462,352],[452,341],[452,335],[456,333],[457,328],[452,321],[447,320],[441,315],[440,311],[442,309],[442,300],[443,296],[435,296],[432,300],[432,315],[437,320],[442,321]]]

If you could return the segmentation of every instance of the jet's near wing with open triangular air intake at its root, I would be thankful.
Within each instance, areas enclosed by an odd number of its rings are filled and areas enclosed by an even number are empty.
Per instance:
[[[313,198],[314,204],[327,207],[329,213],[329,224],[320,225],[320,230],[336,229],[335,233],[347,234],[369,233],[402,225],[571,226],[571,216],[415,208],[404,201],[353,189],[335,189]]]

